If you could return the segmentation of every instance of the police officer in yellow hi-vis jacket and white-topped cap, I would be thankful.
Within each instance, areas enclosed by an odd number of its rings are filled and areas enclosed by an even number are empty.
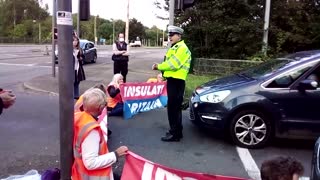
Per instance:
[[[181,40],[183,29],[177,26],[168,26],[169,39],[172,43],[167,51],[165,61],[154,64],[153,70],[163,72],[167,79],[168,93],[168,120],[170,130],[161,138],[162,141],[180,141],[182,135],[182,102],[185,89],[185,80],[189,73],[191,52]]]

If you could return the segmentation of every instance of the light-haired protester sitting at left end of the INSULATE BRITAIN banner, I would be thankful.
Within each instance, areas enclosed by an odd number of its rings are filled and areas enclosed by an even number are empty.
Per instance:
[[[122,83],[123,76],[121,74],[115,74],[107,87],[107,110],[110,111],[109,116],[123,115],[123,101],[120,94],[120,84]]]

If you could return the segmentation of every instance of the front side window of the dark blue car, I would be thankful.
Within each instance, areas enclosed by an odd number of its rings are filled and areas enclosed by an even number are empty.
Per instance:
[[[275,78],[267,88],[288,88],[293,82],[295,82],[301,75],[312,68],[314,64],[300,67],[294,71],[289,71]]]

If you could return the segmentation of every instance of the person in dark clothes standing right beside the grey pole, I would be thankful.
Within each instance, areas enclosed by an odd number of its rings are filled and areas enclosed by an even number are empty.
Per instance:
[[[84,81],[86,76],[83,69],[83,52],[80,48],[80,40],[77,36],[73,36],[73,62],[74,62],[74,99],[79,99],[80,96],[80,81]]]

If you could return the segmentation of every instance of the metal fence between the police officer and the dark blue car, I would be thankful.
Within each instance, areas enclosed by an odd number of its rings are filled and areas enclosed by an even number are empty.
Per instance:
[[[196,58],[193,72],[197,75],[229,75],[259,63],[261,61]]]

